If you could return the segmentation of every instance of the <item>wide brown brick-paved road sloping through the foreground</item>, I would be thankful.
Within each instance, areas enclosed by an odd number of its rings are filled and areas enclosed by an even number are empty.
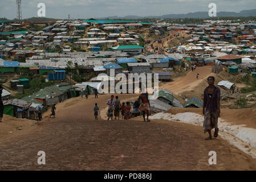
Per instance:
[[[135,95],[121,94],[120,100]],[[77,170],[231,170],[256,169],[255,159],[220,138],[206,141],[202,129],[184,123],[152,121],[94,121],[109,96],[72,98],[56,106],[56,118],[40,127],[0,140],[0,169]],[[46,113],[44,117],[47,117]],[[46,165],[37,164],[38,151]],[[209,151],[217,165],[208,164]]]

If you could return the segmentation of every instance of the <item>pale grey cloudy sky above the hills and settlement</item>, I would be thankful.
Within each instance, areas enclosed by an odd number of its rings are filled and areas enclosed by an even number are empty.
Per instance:
[[[126,15],[186,14],[208,11],[209,3],[216,3],[217,11],[250,10],[255,0],[22,0],[22,18],[37,16],[38,3],[46,5],[47,18],[100,18]],[[0,0],[0,18],[13,19],[17,15],[16,0]]]

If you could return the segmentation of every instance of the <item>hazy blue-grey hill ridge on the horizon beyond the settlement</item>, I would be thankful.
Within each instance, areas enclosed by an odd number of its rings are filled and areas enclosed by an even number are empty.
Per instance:
[[[232,11],[220,11],[217,12],[217,16],[219,17],[230,17],[230,16],[256,16],[256,9],[253,10],[242,10],[239,13]],[[210,18],[208,15],[208,11],[200,11],[195,13],[188,14],[167,14],[162,16],[136,16],[136,15],[128,15],[128,16],[108,16],[99,19],[145,19],[145,18]]]

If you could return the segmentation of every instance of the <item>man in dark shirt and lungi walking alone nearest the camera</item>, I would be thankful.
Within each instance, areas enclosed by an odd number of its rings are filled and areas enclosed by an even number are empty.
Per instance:
[[[218,117],[220,117],[220,97],[221,90],[214,85],[215,78],[209,76],[207,78],[209,86],[204,90],[204,107],[202,113],[204,119],[204,133],[208,131],[209,137],[206,140],[212,139],[211,130],[214,128],[214,137],[218,137]]]

